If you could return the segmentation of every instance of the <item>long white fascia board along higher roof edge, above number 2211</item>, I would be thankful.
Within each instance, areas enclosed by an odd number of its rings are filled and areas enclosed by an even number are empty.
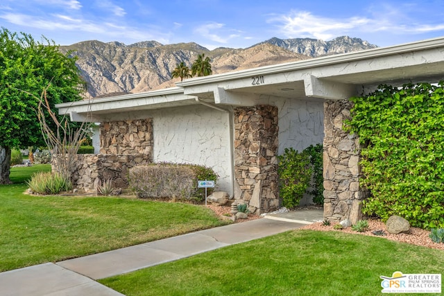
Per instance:
[[[397,46],[388,46],[384,48],[368,49],[366,51],[356,51],[352,53],[342,53],[338,55],[328,55],[321,58],[314,58],[310,60],[302,60],[297,62],[288,62],[284,64],[274,64],[271,66],[258,67],[255,69],[246,69],[241,71],[233,71],[230,73],[220,73],[199,78],[191,78],[182,82],[177,82],[178,87],[192,87],[203,84],[218,83],[228,80],[239,80],[246,78],[250,80],[255,76],[263,76],[274,73],[282,73],[289,71],[303,71],[307,69],[314,69],[318,67],[325,67],[334,64],[357,62],[361,60],[371,60],[375,58],[395,57],[406,53],[414,53],[418,51],[425,51],[428,49],[444,49],[444,37],[434,38],[431,40],[424,40],[420,42],[412,42],[408,44],[400,44]],[[189,92],[187,92],[189,93]]]

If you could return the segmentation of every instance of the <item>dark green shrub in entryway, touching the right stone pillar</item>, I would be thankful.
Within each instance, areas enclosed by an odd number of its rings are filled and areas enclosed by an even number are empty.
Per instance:
[[[311,191],[315,204],[324,204],[324,176],[323,176],[323,146],[322,144],[310,145],[302,152],[308,153],[310,156],[310,164],[313,167],[313,183]]]

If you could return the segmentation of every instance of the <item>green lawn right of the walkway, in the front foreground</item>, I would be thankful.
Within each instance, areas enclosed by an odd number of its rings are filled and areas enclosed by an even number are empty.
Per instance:
[[[100,282],[125,295],[381,295],[380,275],[443,273],[444,252],[296,230]]]

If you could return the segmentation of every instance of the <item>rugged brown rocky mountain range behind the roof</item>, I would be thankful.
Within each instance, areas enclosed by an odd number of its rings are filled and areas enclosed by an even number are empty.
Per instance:
[[[374,47],[358,38],[338,37],[329,42],[272,38],[248,49],[213,51],[193,42],[163,45],[145,41],[126,45],[92,40],[60,46],[60,50],[77,55],[76,64],[88,83],[87,97],[94,98],[171,87],[178,81],[171,80],[176,64],[185,62],[191,68],[200,53],[211,58],[213,73],[223,73]]]

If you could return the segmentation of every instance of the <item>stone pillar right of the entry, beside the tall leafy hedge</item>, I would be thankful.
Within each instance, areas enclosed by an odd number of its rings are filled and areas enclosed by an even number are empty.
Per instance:
[[[362,218],[362,200],[368,192],[359,186],[359,139],[343,130],[351,107],[348,100],[324,103],[324,218],[348,218],[355,224]]]

